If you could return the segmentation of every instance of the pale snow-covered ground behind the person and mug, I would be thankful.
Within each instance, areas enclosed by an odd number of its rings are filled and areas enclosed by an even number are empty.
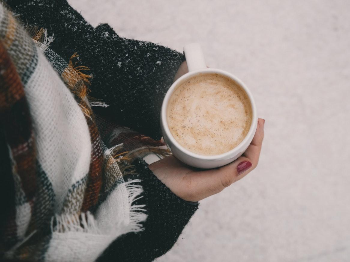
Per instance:
[[[201,201],[157,261],[349,261],[349,1],[69,2],[121,36],[179,51],[200,42],[266,119],[258,168]]]

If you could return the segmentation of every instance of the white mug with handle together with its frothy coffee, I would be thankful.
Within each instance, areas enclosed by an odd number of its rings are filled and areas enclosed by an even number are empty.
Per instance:
[[[188,73],[167,91],[160,114],[163,139],[173,155],[197,168],[237,158],[258,125],[253,96],[235,75],[207,68],[198,43],[184,46]]]

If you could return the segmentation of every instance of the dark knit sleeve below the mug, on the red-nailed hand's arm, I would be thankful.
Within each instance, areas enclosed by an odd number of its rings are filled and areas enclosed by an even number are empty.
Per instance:
[[[143,197],[137,204],[145,204],[148,211],[144,231],[120,236],[99,257],[99,262],[153,261],[174,246],[198,209],[198,204],[189,205],[174,195],[143,160],[135,160],[134,165],[144,188]]]

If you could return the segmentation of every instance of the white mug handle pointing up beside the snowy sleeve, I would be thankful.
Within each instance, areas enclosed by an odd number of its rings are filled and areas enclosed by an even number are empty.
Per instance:
[[[200,44],[192,43],[185,45],[183,47],[183,53],[186,58],[188,72],[207,68]]]

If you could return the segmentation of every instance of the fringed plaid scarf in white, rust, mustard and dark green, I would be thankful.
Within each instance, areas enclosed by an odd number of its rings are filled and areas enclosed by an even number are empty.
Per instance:
[[[27,31],[26,31],[27,29]],[[15,206],[0,256],[93,261],[118,236],[142,230],[136,158],[169,155],[162,141],[95,116],[89,68],[48,46],[43,28],[26,29],[0,3],[0,127],[15,185]],[[29,34],[28,34],[29,33]],[[105,143],[104,143],[104,142]]]

